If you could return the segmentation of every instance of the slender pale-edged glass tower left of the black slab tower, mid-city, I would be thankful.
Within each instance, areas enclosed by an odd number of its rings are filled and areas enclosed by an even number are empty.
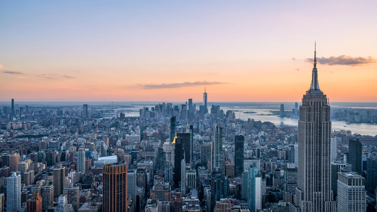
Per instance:
[[[222,171],[222,127],[216,124],[212,142],[212,171]]]

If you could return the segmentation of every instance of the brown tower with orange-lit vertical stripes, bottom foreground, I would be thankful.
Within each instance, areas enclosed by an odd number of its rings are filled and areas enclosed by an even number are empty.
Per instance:
[[[127,164],[103,165],[103,212],[127,212]]]

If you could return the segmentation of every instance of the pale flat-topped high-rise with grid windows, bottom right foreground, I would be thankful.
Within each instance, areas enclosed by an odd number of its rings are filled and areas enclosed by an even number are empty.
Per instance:
[[[365,212],[365,178],[353,172],[338,172],[336,205],[338,212]]]

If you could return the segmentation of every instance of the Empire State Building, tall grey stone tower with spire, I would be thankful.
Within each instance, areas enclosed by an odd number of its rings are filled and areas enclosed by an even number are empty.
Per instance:
[[[335,212],[331,191],[331,121],[326,95],[319,89],[316,49],[310,89],[300,106],[298,173],[290,211]]]

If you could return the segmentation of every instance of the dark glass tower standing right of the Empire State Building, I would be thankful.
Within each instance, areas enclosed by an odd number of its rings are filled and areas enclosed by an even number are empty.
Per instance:
[[[352,164],[352,172],[357,174],[361,173],[361,153],[363,151],[362,144],[358,138],[351,137],[348,141],[348,152],[349,152],[349,164]]]

